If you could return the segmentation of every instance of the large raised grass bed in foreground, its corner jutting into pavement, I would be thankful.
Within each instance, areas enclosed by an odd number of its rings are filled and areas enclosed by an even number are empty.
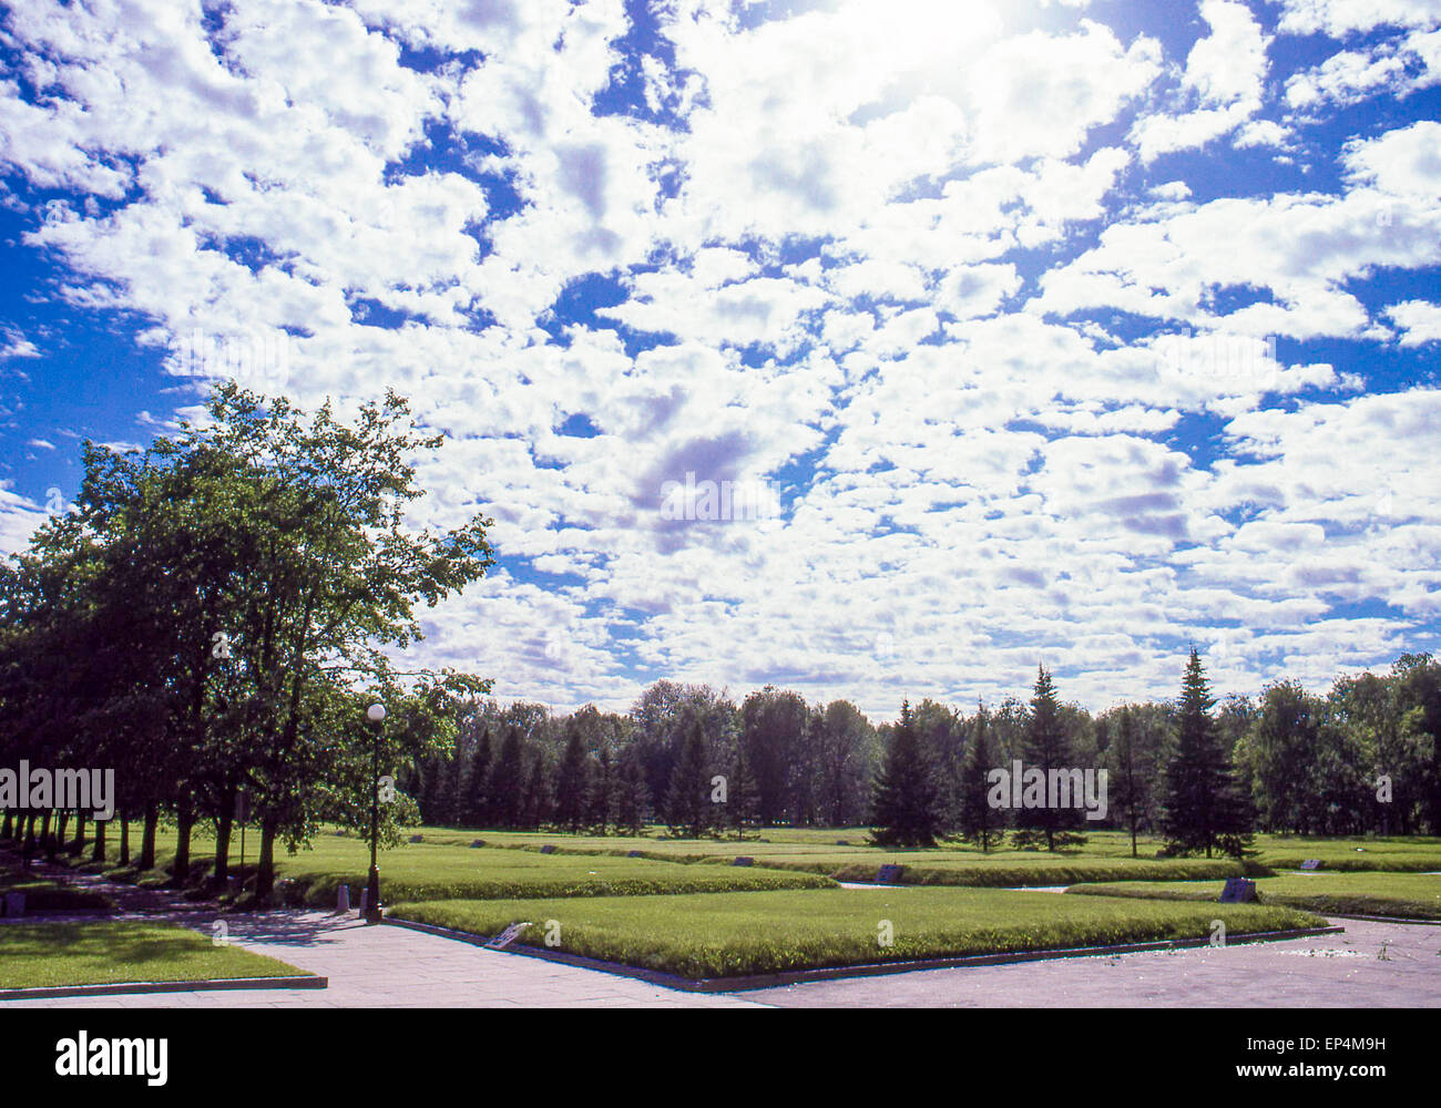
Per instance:
[[[530,922],[517,942],[687,978],[827,965],[1069,947],[1206,938],[1215,919],[1232,935],[1319,926],[1290,908],[1192,905],[1056,896],[997,889],[821,889],[635,896],[592,901],[434,901],[401,903],[392,918],[494,935]],[[893,944],[879,944],[891,921]]]

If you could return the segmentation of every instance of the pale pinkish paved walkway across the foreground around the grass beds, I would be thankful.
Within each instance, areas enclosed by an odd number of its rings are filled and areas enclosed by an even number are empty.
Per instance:
[[[683,993],[356,913],[226,913],[161,890],[102,888],[127,913],[210,934],[330,978],[326,990],[226,990],[0,1001],[4,1007],[1441,1007],[1441,926],[1334,921],[1343,935],[1154,954],[1056,958]],[[1385,954],[1385,957],[1382,957]]]

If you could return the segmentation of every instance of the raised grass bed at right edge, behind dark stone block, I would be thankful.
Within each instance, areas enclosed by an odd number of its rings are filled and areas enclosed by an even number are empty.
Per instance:
[[[1081,885],[1069,892],[1088,896],[1125,896],[1166,901],[1215,901],[1218,882],[1114,882]],[[1303,908],[1310,912],[1389,915],[1404,919],[1441,919],[1441,876],[1421,873],[1295,873],[1259,877],[1262,903]]]

